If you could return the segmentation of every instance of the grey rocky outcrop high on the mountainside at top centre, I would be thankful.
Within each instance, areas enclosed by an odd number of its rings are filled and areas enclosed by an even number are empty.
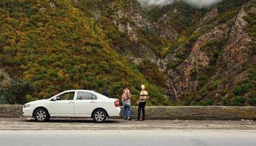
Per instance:
[[[128,41],[136,45],[122,49],[117,44],[116,48],[136,65],[142,63],[142,60],[145,58],[155,62],[156,55],[154,49],[146,45],[145,42],[141,42],[143,38],[141,31],[153,31],[156,29],[155,26],[149,21],[148,16],[143,13],[142,7],[137,1],[131,0],[125,1],[125,3],[127,4],[125,9],[117,9],[111,18],[117,26],[117,30],[128,34]],[[116,5],[117,3],[113,3],[111,7],[115,8]]]

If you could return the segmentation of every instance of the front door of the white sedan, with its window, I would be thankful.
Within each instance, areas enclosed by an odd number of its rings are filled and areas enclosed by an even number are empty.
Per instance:
[[[61,94],[57,100],[51,101],[51,116],[69,117],[74,116],[74,96],[75,92]]]

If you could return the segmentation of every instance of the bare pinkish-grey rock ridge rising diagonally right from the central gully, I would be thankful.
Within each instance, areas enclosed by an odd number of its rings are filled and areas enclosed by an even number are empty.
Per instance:
[[[203,34],[195,42],[189,57],[175,71],[168,71],[170,90],[175,91],[177,95],[176,99],[185,91],[196,90],[197,83],[190,79],[191,70],[197,69],[198,66],[207,66],[209,64],[209,58],[206,52],[201,51],[200,47],[207,42],[222,40],[229,34],[229,31],[230,28],[226,24],[223,24],[215,27],[211,32]]]

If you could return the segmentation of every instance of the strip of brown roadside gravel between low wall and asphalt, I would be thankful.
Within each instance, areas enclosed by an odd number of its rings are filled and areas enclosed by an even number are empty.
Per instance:
[[[210,121],[210,120],[145,120],[126,121],[108,119],[105,123],[93,123],[91,119],[54,118],[46,123],[37,123],[28,118],[0,118],[0,130],[256,130],[255,121]]]

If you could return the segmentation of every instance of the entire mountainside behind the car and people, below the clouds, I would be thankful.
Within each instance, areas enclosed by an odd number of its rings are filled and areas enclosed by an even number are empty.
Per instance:
[[[256,0],[4,0],[0,14],[2,93],[15,79],[37,87],[27,100],[129,86],[135,104],[146,84],[148,105],[256,105]]]

